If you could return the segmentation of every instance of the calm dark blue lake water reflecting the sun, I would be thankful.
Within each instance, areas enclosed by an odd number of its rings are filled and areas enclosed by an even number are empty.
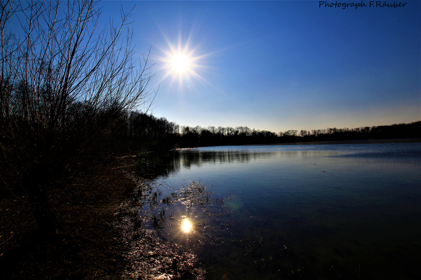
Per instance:
[[[187,196],[159,235],[194,251],[209,279],[421,277],[420,143],[202,147],[159,161],[163,196]],[[212,215],[186,203],[191,181]]]

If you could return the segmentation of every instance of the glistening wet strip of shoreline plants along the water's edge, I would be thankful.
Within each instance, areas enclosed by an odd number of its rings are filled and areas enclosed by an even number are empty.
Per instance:
[[[197,265],[191,250],[181,250],[176,244],[164,242],[157,232],[165,227],[166,208],[159,201],[162,191],[153,183],[139,182],[136,194],[122,203],[116,213],[115,226],[125,246],[124,258],[130,267],[130,279],[173,279],[179,277],[204,280],[206,271]],[[155,230],[145,228],[152,224]]]

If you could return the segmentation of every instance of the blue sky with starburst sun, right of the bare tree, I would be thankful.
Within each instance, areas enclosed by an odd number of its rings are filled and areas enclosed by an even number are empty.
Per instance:
[[[151,47],[151,85],[160,84],[155,115],[180,125],[279,132],[418,121],[420,1],[400,8],[363,3],[345,9],[318,1],[99,4],[104,22],[120,18],[121,5],[135,5],[136,55]]]

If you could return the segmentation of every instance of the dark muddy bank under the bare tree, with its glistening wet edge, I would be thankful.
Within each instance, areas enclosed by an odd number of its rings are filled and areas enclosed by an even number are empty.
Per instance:
[[[2,190],[0,279],[204,279],[195,254],[143,227],[156,186],[122,170],[102,179],[79,200],[56,194],[53,235],[38,228],[25,195]]]

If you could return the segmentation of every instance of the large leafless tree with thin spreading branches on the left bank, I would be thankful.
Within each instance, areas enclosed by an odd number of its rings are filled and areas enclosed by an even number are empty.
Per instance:
[[[110,143],[123,115],[148,110],[154,96],[147,57],[136,67],[132,34],[123,34],[130,13],[122,10],[118,25],[97,30],[96,4],[0,4],[1,180],[12,193],[27,194],[46,232],[56,231],[51,193],[74,196],[70,180],[115,158]],[[11,19],[23,33],[8,29]]]

